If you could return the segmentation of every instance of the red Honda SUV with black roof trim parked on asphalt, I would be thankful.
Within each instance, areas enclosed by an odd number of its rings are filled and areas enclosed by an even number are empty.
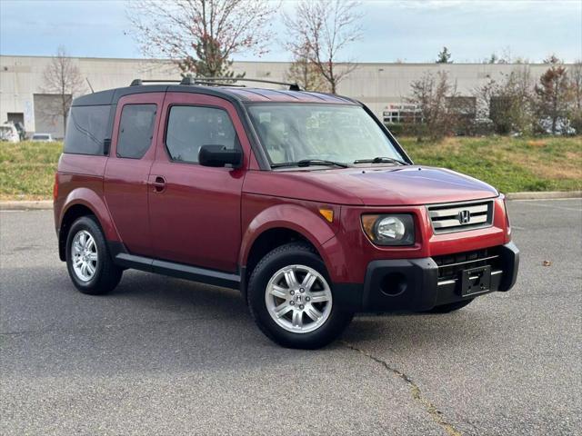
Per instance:
[[[504,196],[413,164],[337,95],[190,79],[76,98],[54,197],[79,291],[109,292],[127,268],[240,289],[286,347],[326,345],[355,312],[455,311],[517,278]]]

